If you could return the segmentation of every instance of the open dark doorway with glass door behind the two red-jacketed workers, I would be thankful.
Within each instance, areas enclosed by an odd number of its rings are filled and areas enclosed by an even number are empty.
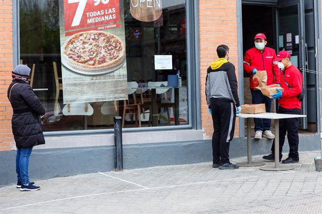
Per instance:
[[[306,72],[316,70],[314,32],[314,0],[278,0],[275,3],[263,4],[263,1],[242,1],[243,20],[243,54],[254,47],[254,36],[261,32],[266,35],[267,47],[276,53],[287,50],[291,53],[291,61],[303,75],[305,98],[302,101],[300,129],[317,131],[316,115],[316,75]],[[318,37],[317,37],[318,38]],[[243,55],[243,56],[244,56]],[[244,75],[244,100],[252,102],[249,89],[250,80]],[[276,104],[272,104],[271,112],[275,112]]]

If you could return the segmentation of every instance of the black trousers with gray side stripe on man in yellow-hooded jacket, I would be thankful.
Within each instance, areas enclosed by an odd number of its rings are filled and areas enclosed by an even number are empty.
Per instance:
[[[229,163],[229,144],[233,138],[236,121],[236,109],[229,101],[211,101],[213,135],[212,161],[213,163]]]

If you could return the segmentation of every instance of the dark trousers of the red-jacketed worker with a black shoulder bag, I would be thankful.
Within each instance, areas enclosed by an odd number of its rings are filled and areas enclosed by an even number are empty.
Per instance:
[[[279,107],[278,113],[280,114],[290,114],[290,115],[299,115],[299,109],[284,109]],[[298,125],[300,119],[299,118],[287,118],[279,120],[279,154],[280,158],[282,158],[282,149],[285,141],[285,135],[287,132],[287,140],[290,146],[290,151],[288,153],[288,157],[293,158],[294,160],[298,160]],[[274,142],[272,145],[272,153],[275,152]]]

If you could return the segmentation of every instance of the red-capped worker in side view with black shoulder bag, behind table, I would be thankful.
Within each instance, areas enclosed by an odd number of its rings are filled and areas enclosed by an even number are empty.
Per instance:
[[[279,98],[278,113],[299,115],[301,110],[301,101],[298,95],[302,92],[303,77],[301,72],[296,66],[292,65],[290,61],[291,54],[287,51],[280,51],[275,59],[279,63],[279,67],[282,69],[280,82],[284,91],[277,89],[277,93],[273,94],[273,99]],[[285,67],[285,70],[284,70]],[[282,163],[298,163],[298,125],[299,118],[288,118],[279,120],[279,160],[282,159],[282,148],[284,145],[285,135],[287,132],[287,140],[290,146],[288,158],[282,161]],[[274,161],[274,141],[272,145],[272,154],[266,155],[263,158],[265,160]]]

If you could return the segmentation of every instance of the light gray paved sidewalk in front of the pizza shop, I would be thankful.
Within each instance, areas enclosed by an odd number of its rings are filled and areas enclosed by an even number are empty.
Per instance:
[[[0,213],[322,213],[315,156],[300,153],[289,171],[219,170],[207,162],[36,180],[39,191],[0,188]]]

